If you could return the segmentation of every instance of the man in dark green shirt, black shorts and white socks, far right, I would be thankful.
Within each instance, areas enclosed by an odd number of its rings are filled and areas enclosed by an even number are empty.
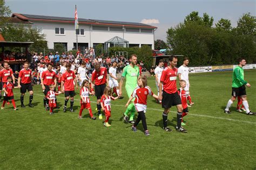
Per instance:
[[[246,65],[246,61],[244,58],[239,58],[238,59],[238,66],[236,66],[233,70],[233,80],[232,80],[232,96],[231,99],[228,100],[227,106],[225,108],[225,113],[230,114],[230,107],[238,96],[241,97],[242,99],[242,105],[244,105],[246,114],[248,115],[255,115],[254,112],[249,110],[249,104],[246,98],[246,90],[245,90],[245,85],[247,87],[251,87],[249,83],[247,83],[244,80],[244,69],[242,69],[243,66]]]

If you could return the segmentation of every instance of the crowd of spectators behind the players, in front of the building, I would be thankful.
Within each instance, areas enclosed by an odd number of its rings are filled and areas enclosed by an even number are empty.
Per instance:
[[[104,66],[107,68],[107,71],[109,70],[109,67],[111,67],[113,62],[117,62],[117,73],[122,73],[123,68],[126,65],[129,65],[129,59],[125,58],[123,55],[112,55],[112,56],[104,56],[104,53],[102,53],[99,56],[95,56],[95,52],[93,49],[85,50],[84,53],[77,51],[76,53],[72,52],[55,52],[55,53],[48,53],[46,55],[43,55],[43,53],[29,53],[28,55],[25,55],[25,53],[15,53],[15,52],[4,52],[1,55],[1,59],[4,62],[10,63],[12,70],[16,73],[18,78],[18,71],[22,69],[22,64],[11,64],[11,62],[14,61],[20,61],[30,62],[30,69],[32,70],[32,76],[33,76],[33,84],[40,84],[40,76],[39,76],[39,69],[42,67],[43,64],[47,65],[51,63],[53,65],[53,70],[56,71],[56,73],[60,70],[60,68],[63,66],[64,62],[71,63],[71,70],[73,70],[75,73],[78,70],[78,67],[82,62],[86,64],[86,69],[88,70],[88,75],[92,73],[92,71],[95,69],[95,64],[99,63],[101,66]],[[145,72],[146,69],[144,67],[143,61],[138,62],[138,66],[140,67],[140,70],[142,72]]]

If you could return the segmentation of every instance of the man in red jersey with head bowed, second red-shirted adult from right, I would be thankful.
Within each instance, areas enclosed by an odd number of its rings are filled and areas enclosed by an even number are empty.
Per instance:
[[[95,92],[92,92],[92,94],[95,94],[97,97],[97,110],[99,119],[102,119],[102,114],[100,113],[100,98],[103,95],[104,89],[106,87],[106,84],[108,86],[109,80],[107,79],[107,69],[106,67],[100,67],[100,64],[95,64],[95,70],[92,72],[92,82],[91,82],[91,89],[93,89],[93,85],[95,85]]]

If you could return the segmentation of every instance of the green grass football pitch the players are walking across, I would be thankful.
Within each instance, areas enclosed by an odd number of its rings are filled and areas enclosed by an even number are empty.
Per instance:
[[[250,110],[256,112],[256,70],[245,70],[245,80],[252,85],[246,88]],[[154,78],[147,81],[157,93]],[[188,133],[174,131],[174,107],[168,117],[173,132],[165,132],[163,109],[148,97],[148,137],[141,123],[133,132],[131,124],[123,121],[128,100],[124,87],[125,98],[111,101],[111,127],[104,127],[98,117],[91,120],[87,110],[84,119],[78,119],[79,95],[75,112],[63,112],[64,94],[60,94],[60,109],[49,115],[41,86],[33,86],[34,108],[28,107],[28,92],[26,108],[21,108],[19,89],[15,89],[19,110],[10,104],[0,111],[0,169],[255,169],[256,116],[237,112],[237,100],[231,114],[224,113],[231,97],[232,72],[190,74],[190,83],[195,104],[184,117]],[[91,106],[96,114],[94,96]]]

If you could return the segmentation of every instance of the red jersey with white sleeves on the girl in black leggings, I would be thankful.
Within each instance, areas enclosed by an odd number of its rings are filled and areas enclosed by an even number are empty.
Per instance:
[[[147,104],[147,95],[153,96],[153,92],[151,91],[150,87],[145,86],[145,87],[137,87],[136,89],[134,89],[134,91],[132,92],[132,97],[135,98],[134,100],[134,104],[143,104],[146,105]]]

